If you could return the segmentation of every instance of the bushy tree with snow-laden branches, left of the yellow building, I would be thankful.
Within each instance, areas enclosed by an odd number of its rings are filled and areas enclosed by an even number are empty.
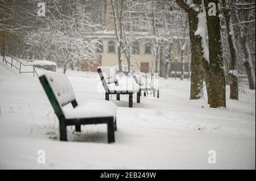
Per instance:
[[[89,20],[84,10],[86,4],[53,0],[47,7],[47,16],[39,19],[45,26],[26,36],[27,51],[38,60],[60,62],[64,71],[82,61],[97,60],[97,39],[86,38],[86,34],[99,30],[100,26]],[[33,12],[31,15],[36,16]]]

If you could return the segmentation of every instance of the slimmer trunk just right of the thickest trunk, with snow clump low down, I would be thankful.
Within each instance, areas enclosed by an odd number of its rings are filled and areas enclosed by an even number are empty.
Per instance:
[[[238,100],[237,48],[234,41],[233,25],[230,15],[229,2],[228,0],[222,0],[222,4],[225,7],[224,16],[226,20],[226,28],[228,30],[228,43],[231,56],[231,64],[229,71],[230,99]]]

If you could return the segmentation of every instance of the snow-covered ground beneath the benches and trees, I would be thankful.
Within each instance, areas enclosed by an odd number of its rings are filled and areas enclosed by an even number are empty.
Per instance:
[[[103,100],[96,73],[68,71],[78,103]],[[69,128],[58,141],[58,120],[32,74],[18,74],[0,62],[0,169],[255,169],[255,91],[240,89],[227,108],[189,100],[190,82],[160,79],[160,98],[142,97],[118,105],[115,143],[107,144],[106,125]],[[46,151],[39,164],[38,150]],[[216,163],[208,162],[209,150]]]

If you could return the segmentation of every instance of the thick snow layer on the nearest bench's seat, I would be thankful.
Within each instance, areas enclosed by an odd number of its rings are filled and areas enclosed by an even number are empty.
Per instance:
[[[66,119],[86,117],[115,117],[117,106],[106,100],[88,100],[71,111],[64,111]]]

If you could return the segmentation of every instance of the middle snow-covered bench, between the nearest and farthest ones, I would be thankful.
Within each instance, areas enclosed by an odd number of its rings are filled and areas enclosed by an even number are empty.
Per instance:
[[[137,92],[137,103],[141,103],[139,85],[134,82],[133,77],[123,76],[123,78],[118,80],[114,68],[110,66],[99,66],[97,71],[105,89],[106,100],[109,100],[110,94],[116,94],[117,100],[120,100],[120,94],[128,94],[129,107],[133,107],[133,94]]]

